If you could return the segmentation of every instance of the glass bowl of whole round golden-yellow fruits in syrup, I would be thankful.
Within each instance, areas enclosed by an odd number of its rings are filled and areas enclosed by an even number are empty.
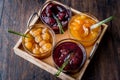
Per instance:
[[[51,50],[55,44],[55,33],[43,24],[35,24],[22,37],[24,49],[32,56],[43,59],[51,55]]]

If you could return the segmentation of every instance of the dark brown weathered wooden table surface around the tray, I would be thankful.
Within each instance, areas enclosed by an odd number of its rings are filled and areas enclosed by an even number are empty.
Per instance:
[[[64,3],[64,0],[59,0]],[[50,73],[15,55],[13,47],[20,38],[8,29],[25,32],[29,16],[45,0],[0,0],[0,80],[58,80]],[[111,15],[108,29],[86,69],[82,80],[120,80],[120,0],[67,0],[81,12],[99,20]]]

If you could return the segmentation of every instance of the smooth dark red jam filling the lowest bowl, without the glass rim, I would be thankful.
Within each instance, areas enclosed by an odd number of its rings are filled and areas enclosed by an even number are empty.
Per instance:
[[[72,52],[72,54],[71,54]],[[74,42],[63,42],[57,45],[53,50],[53,60],[58,67],[61,67],[65,62],[68,55],[69,62],[65,66],[65,71],[76,72],[83,63],[84,54],[82,49],[77,43]]]

